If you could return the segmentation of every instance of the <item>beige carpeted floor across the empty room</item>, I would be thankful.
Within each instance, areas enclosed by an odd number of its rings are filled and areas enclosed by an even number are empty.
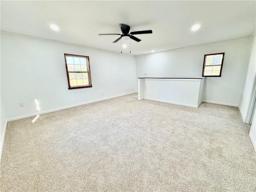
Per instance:
[[[130,94],[8,123],[2,192],[253,192],[238,108]]]

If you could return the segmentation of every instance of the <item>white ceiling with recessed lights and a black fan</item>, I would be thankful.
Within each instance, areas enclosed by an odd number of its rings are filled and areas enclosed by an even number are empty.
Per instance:
[[[1,30],[120,52],[120,23],[134,35],[132,55],[250,36],[256,28],[255,1],[1,1]],[[58,32],[50,24],[60,27]],[[191,27],[201,28],[192,32]],[[130,41],[123,53],[129,53]]]

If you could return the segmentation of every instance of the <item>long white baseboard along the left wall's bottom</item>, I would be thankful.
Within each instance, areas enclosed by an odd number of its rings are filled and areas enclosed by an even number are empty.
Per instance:
[[[120,97],[120,96],[124,96],[124,95],[128,95],[128,94],[132,94],[132,93],[136,93],[136,92],[134,91],[134,92],[130,92],[130,93],[124,93],[124,94],[111,96],[111,97],[107,97],[107,98],[102,98],[102,99],[98,99],[98,100],[92,100],[92,101],[87,101],[87,102],[83,102],[83,103],[78,103],[78,104],[74,104],[74,105],[56,108],[56,109],[50,109],[50,110],[36,112],[36,113],[28,114],[28,115],[22,115],[22,116],[18,116],[18,117],[8,118],[7,122],[18,120],[18,119],[23,119],[23,118],[27,118],[27,117],[32,117],[32,116],[36,116],[36,115],[40,115],[40,114],[50,113],[50,112],[54,112],[54,111],[58,111],[58,110],[62,110],[62,109],[72,108],[72,107],[76,107],[76,106],[80,106],[80,105],[84,105],[84,104],[89,104],[89,103],[94,103],[94,102],[103,101],[103,100],[107,100],[107,99],[112,99],[115,97]]]

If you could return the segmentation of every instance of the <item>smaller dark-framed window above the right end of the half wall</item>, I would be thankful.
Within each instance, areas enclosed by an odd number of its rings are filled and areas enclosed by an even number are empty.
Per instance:
[[[221,77],[224,53],[204,55],[203,77]]]

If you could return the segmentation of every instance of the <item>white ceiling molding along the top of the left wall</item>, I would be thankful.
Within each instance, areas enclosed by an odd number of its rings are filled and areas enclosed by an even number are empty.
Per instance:
[[[29,35],[23,35],[23,34],[18,34],[18,33],[12,33],[12,32],[8,32],[8,31],[0,30],[0,33],[8,34],[8,35],[13,35],[13,36],[24,37],[24,38],[30,38],[30,39],[40,40],[40,41],[47,41],[47,42],[52,42],[52,43],[58,43],[58,44],[63,44],[63,45],[76,46],[76,47],[86,48],[86,49],[90,49],[90,50],[103,51],[103,52],[109,52],[109,53],[114,53],[114,54],[119,54],[119,55],[126,55],[126,56],[135,57],[135,55],[130,55],[130,54],[126,54],[126,53],[118,53],[118,52],[114,52],[114,51],[108,51],[108,50],[103,50],[103,49],[87,47],[87,46],[83,46],[83,45],[77,45],[77,44],[66,43],[66,42],[61,42],[61,41],[56,41],[56,40],[50,40],[50,39],[45,39],[45,38],[40,38],[40,37],[35,37],[35,36],[29,36]]]

